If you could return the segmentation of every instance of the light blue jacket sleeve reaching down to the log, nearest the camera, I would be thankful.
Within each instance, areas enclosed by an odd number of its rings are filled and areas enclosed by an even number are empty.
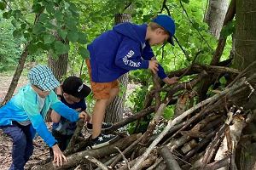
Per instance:
[[[25,101],[24,110],[26,111],[29,120],[32,122],[32,127],[37,131],[39,136],[44,139],[44,142],[48,144],[49,147],[52,147],[56,140],[46,127],[44,119],[38,111],[38,105],[35,105],[30,101]]]

